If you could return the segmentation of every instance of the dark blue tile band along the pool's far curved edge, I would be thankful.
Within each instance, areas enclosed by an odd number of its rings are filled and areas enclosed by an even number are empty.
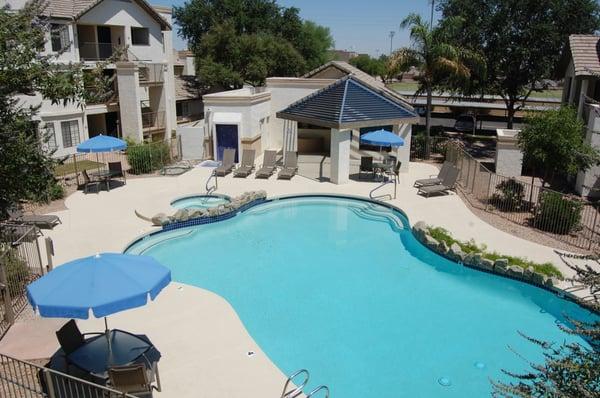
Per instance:
[[[185,197],[190,197],[190,196],[202,196],[202,195],[186,195],[184,197],[181,197],[179,199],[183,199]],[[228,197],[227,195],[221,195],[221,194],[215,194],[215,195],[210,195],[210,196],[221,196],[221,197]],[[229,197],[230,198],[230,197]],[[143,239],[150,237],[150,236],[155,236],[158,235],[160,233],[163,232],[170,232],[170,231],[174,231],[176,229],[180,229],[180,228],[188,228],[188,227],[192,227],[192,226],[197,226],[197,225],[204,225],[204,224],[212,224],[212,223],[216,223],[216,222],[220,222],[220,221],[226,221],[229,220],[235,216],[237,216],[240,213],[243,213],[255,206],[258,205],[262,205],[262,204],[266,204],[266,203],[271,203],[271,202],[278,202],[280,200],[287,200],[287,199],[297,199],[297,198],[332,198],[332,199],[351,199],[351,200],[357,200],[357,201],[362,201],[362,202],[367,202],[367,203],[375,203],[377,205],[386,207],[390,210],[393,210],[395,212],[400,213],[402,216],[404,216],[406,218],[406,221],[408,223],[408,229],[410,230],[410,233],[413,235],[413,237],[415,238],[415,240],[417,242],[419,242],[423,247],[425,247],[426,249],[428,249],[429,251],[431,251],[432,253],[448,260],[451,261],[453,263],[455,263],[458,266],[464,266],[470,269],[473,269],[475,271],[480,271],[480,272],[485,272],[488,274],[492,274],[494,276],[497,277],[503,277],[503,278],[508,278],[508,279],[512,279],[521,283],[525,283],[537,288],[541,288],[543,290],[546,290],[552,294],[555,294],[556,296],[558,296],[561,299],[564,300],[568,300],[571,301],[575,304],[577,304],[578,306],[580,306],[581,308],[590,311],[596,315],[600,316],[600,310],[596,309],[592,306],[590,306],[587,302],[582,301],[579,297],[575,296],[574,294],[558,287],[558,286],[547,286],[544,284],[539,284],[536,283],[535,281],[532,281],[530,279],[525,279],[525,278],[519,278],[517,276],[514,275],[509,275],[509,274],[504,274],[504,273],[499,273],[499,272],[495,272],[494,270],[488,270],[485,268],[480,268],[480,267],[476,267],[476,266],[472,266],[471,264],[467,264],[465,262],[462,261],[456,261],[454,258],[449,257],[446,253],[442,253],[440,251],[437,251],[431,247],[429,247],[427,244],[425,244],[420,238],[419,236],[415,233],[413,226],[410,225],[410,218],[408,217],[408,215],[399,207],[390,204],[390,203],[386,203],[386,202],[382,202],[379,200],[374,200],[374,199],[370,199],[370,198],[366,198],[364,196],[358,196],[358,195],[349,195],[349,194],[328,194],[328,193],[305,193],[305,194],[289,194],[289,195],[280,195],[280,196],[274,196],[272,198],[264,198],[264,199],[256,199],[253,201],[250,201],[246,204],[244,204],[243,206],[218,215],[218,216],[212,216],[212,217],[203,217],[203,218],[196,218],[196,219],[192,219],[192,220],[188,220],[188,221],[182,221],[182,222],[175,222],[175,223],[171,223],[168,224],[166,226],[161,227],[159,230],[155,230],[155,231],[151,231],[142,235],[139,235],[137,237],[135,237],[132,241],[130,241],[122,250],[122,253],[127,252],[127,250],[129,250],[132,246],[134,246],[135,244],[141,242]],[[172,202],[174,202],[177,199],[174,199]],[[415,224],[416,225],[416,224]]]

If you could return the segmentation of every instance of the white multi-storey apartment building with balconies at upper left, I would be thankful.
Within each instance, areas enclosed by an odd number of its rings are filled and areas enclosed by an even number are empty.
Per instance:
[[[22,7],[23,0],[8,2]],[[91,69],[117,48],[119,61],[104,65],[114,76],[114,95],[106,102],[52,104],[41,96],[23,98],[40,104],[40,126],[50,135],[55,156],[76,151],[77,144],[99,134],[135,141],[170,140],[176,105],[171,8],[145,0],[48,0],[51,30],[44,52],[56,62]]]

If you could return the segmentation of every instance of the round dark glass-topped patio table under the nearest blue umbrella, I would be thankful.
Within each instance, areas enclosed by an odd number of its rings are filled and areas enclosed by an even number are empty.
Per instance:
[[[105,334],[93,337],[68,355],[71,364],[97,379],[108,381],[108,369],[133,363],[145,363],[153,371],[160,360],[160,352],[144,335],[119,329],[109,331],[110,351]]]

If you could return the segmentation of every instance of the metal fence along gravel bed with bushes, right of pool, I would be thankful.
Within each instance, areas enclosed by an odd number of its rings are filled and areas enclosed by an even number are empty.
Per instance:
[[[498,175],[452,143],[446,147],[446,159],[460,170],[459,186],[473,206],[569,245],[600,249],[597,204],[523,177]]]

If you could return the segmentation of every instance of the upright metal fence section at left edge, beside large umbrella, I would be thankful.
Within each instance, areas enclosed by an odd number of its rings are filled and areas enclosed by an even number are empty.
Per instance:
[[[27,305],[26,286],[45,272],[39,229],[0,224],[0,337]]]

